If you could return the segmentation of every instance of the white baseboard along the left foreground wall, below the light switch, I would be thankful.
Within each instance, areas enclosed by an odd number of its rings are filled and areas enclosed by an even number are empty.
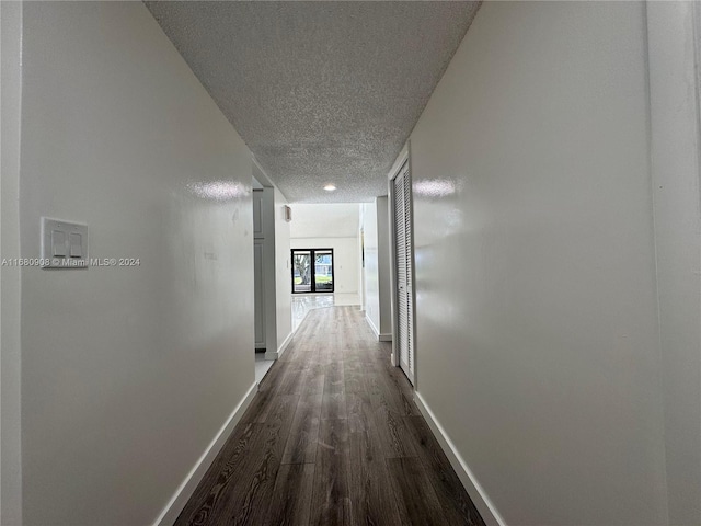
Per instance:
[[[233,427],[239,423],[245,410],[249,409],[253,397],[257,392],[258,386],[257,384],[253,384],[249,389],[249,392],[245,393],[243,400],[239,402],[239,405],[233,410],[233,412],[227,419],[227,422],[223,424],[219,433],[217,433],[207,447],[205,453],[202,454],[202,457],[195,462],[193,469],[189,470],[187,477],[183,480],[183,482],[177,487],[173,498],[165,505],[163,511],[160,513],[153,526],[172,526],[175,523],[175,519],[180,515],[180,513],[187,504],[187,501],[193,495],[195,490],[197,489],[197,484],[202,481],[203,477],[214,462],[217,454],[223,447],[227,438],[231,435]]]

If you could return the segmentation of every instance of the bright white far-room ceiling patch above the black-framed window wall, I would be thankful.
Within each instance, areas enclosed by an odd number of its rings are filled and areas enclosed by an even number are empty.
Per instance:
[[[290,238],[353,238],[360,228],[360,205],[292,204]]]

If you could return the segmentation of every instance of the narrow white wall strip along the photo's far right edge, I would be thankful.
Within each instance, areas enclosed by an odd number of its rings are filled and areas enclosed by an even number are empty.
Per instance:
[[[700,11],[696,2],[647,5],[666,467],[674,525],[701,524],[701,136],[694,64]]]

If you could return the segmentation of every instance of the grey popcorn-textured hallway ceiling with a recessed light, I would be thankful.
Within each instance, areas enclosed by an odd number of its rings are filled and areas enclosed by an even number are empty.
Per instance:
[[[387,194],[388,171],[479,7],[146,4],[269,178],[303,203]]]

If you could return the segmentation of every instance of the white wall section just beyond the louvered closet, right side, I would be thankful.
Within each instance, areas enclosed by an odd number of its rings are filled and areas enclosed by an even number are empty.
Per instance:
[[[380,196],[374,203],[364,203],[361,206],[366,317],[375,333],[389,341],[392,336],[392,301],[388,198]]]

